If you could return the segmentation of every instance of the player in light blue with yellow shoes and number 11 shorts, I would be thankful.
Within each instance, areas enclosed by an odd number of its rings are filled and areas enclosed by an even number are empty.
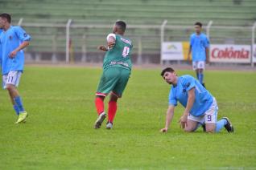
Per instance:
[[[31,36],[20,26],[11,26],[10,22],[10,14],[0,14],[0,28],[3,30],[0,34],[2,84],[9,92],[14,111],[19,115],[16,123],[22,123],[27,118],[27,111],[23,107],[17,87],[24,67],[23,48],[29,45]]]

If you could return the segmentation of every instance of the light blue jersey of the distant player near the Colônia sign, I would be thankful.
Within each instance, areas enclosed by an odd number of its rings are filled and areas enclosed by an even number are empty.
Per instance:
[[[190,36],[190,47],[192,49],[192,61],[199,62],[206,60],[205,48],[209,47],[209,39],[203,33],[196,33]]]

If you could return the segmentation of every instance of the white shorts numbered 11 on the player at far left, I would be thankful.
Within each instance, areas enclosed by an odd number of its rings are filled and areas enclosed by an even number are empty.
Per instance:
[[[8,74],[2,75],[2,88],[6,89],[7,84],[12,84],[15,87],[18,87],[19,79],[22,74],[22,71],[10,71]]]

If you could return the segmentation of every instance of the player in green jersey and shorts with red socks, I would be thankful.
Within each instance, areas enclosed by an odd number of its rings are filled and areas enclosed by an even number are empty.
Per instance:
[[[130,54],[133,48],[129,38],[124,37],[126,23],[115,22],[113,33],[106,38],[107,47],[98,47],[101,51],[106,51],[103,61],[103,73],[97,87],[95,106],[98,118],[94,124],[95,128],[100,128],[106,114],[104,111],[104,99],[110,93],[107,129],[113,127],[114,116],[117,111],[118,98],[122,97],[122,92],[130,78],[131,60]]]

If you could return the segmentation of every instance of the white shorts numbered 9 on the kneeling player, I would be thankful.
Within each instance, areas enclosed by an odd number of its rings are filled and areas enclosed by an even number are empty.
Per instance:
[[[217,101],[215,98],[213,98],[213,104],[211,107],[205,111],[204,115],[201,115],[200,117],[196,117],[194,115],[188,115],[188,119],[199,122],[199,123],[217,123],[217,113],[218,106]]]

